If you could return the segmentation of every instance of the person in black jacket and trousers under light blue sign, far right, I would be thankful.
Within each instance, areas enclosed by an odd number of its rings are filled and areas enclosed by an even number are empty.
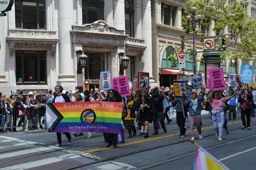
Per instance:
[[[246,122],[244,115],[246,115],[246,120],[247,120],[247,129],[251,130],[250,127],[250,113],[252,111],[252,107],[254,107],[254,102],[253,102],[253,96],[252,92],[249,90],[245,90],[245,88],[242,90],[242,94],[238,97],[238,102],[240,103],[240,109],[241,109],[241,119],[242,119],[242,128],[246,128]]]

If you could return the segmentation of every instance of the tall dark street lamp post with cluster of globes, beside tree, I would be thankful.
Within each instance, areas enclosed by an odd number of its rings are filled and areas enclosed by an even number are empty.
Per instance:
[[[190,14],[188,14],[186,16],[187,22],[188,22],[188,28],[190,26],[190,23],[192,24],[192,29],[193,29],[193,52],[195,51],[195,30],[196,30],[196,23],[200,24],[200,20],[202,18],[202,16],[200,14],[198,14],[196,16],[196,6],[193,5],[193,7],[191,8],[192,10],[192,20]],[[197,20],[196,20],[197,18]],[[196,53],[193,53],[193,65],[194,65],[194,74],[196,74]]]

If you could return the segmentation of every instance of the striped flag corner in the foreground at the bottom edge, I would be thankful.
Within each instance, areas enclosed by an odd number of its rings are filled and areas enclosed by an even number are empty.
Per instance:
[[[198,149],[192,170],[230,170],[202,147]]]

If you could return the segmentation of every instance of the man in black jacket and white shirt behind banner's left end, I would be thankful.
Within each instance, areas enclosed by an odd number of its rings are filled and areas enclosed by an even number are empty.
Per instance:
[[[56,86],[55,87],[56,95],[54,96],[54,100],[52,101],[52,103],[70,102],[70,98],[66,94],[62,94],[62,91],[63,91],[62,86]],[[71,141],[72,141],[72,138],[71,138],[70,134],[68,132],[65,132],[64,134],[68,138],[68,145],[70,145]],[[61,147],[61,142],[62,142],[61,141],[61,133],[57,132],[56,135],[57,135],[58,144],[55,145],[55,146],[56,147]]]

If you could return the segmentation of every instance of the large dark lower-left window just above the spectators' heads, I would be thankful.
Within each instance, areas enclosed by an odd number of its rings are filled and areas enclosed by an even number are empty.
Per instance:
[[[46,51],[16,51],[16,83],[46,84]]]

